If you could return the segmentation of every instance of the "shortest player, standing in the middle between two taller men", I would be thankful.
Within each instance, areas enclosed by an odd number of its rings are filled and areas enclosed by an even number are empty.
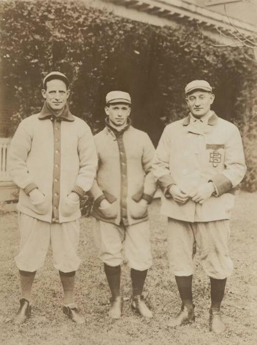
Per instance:
[[[99,258],[111,289],[109,316],[120,318],[122,245],[131,267],[132,309],[152,317],[142,290],[152,265],[148,204],[156,190],[151,172],[154,146],[149,136],[131,125],[131,97],[123,91],[106,95],[105,128],[95,137],[97,176],[91,188]]]

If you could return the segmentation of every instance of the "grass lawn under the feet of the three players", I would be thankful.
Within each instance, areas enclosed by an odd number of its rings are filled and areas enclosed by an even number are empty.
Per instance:
[[[167,321],[180,307],[174,278],[167,261],[166,218],[159,214],[159,201],[150,207],[154,265],[146,279],[144,296],[154,318],[144,320],[130,309],[130,270],[122,266],[123,316],[107,317],[109,292],[102,264],[93,243],[91,219],[81,219],[80,257],[76,301],[86,323],[76,325],[62,314],[62,288],[53,269],[49,250],[44,267],[33,285],[32,317],[23,325],[11,318],[19,308],[19,275],[13,257],[19,246],[16,213],[0,218],[0,344],[1,345],[256,345],[257,344],[257,193],[238,192],[231,221],[230,251],[234,262],[223,302],[227,330],[222,335],[209,332],[209,279],[195,259],[193,279],[196,322],[179,329],[168,329]]]

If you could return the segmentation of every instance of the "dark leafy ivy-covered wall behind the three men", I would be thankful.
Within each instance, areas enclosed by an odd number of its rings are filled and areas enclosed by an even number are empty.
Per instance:
[[[130,92],[133,124],[154,144],[164,125],[187,115],[185,85],[206,79],[214,87],[218,116],[240,126],[248,162],[242,187],[257,189],[251,147],[256,67],[237,48],[206,45],[193,25],[156,27],[79,1],[1,2],[0,21],[1,85],[15,105],[10,136],[21,119],[40,110],[42,79],[52,70],[69,77],[70,110],[94,132],[103,127],[106,93]]]

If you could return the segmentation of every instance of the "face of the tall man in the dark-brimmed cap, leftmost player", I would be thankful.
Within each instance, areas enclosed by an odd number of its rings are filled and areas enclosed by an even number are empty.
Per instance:
[[[66,84],[59,79],[53,79],[46,83],[46,90],[42,90],[42,95],[47,105],[54,112],[59,112],[65,107],[70,90]]]

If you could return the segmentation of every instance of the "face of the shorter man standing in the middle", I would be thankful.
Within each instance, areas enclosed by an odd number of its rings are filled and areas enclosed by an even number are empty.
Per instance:
[[[124,103],[110,104],[105,107],[105,113],[109,120],[117,127],[124,126],[127,123],[127,118],[130,115],[131,107]]]

